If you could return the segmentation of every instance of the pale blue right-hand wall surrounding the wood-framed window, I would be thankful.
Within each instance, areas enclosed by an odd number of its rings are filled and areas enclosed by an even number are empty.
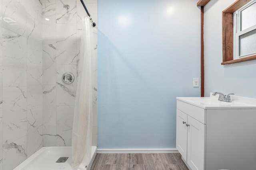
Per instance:
[[[236,0],[211,0],[204,8],[205,94],[225,94],[256,98],[256,61],[221,65],[222,11]]]

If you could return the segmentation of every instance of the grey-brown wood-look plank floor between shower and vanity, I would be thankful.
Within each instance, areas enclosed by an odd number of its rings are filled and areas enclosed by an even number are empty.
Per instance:
[[[97,154],[91,170],[188,170],[180,154]]]

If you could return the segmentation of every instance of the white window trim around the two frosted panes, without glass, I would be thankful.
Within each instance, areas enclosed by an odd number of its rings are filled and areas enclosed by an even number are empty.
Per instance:
[[[256,0],[252,0],[251,2],[249,2],[245,6],[243,6],[242,8],[237,10],[236,12],[234,12],[234,38],[233,38],[234,39],[233,40],[234,41],[234,45],[233,45],[234,60],[256,55],[256,53],[252,53],[252,54],[248,54],[248,55],[239,56],[239,36],[256,29],[256,25],[253,25],[252,27],[249,27],[247,29],[244,29],[244,30],[240,31],[240,28],[241,28],[241,25],[240,25],[241,24],[241,11],[244,10],[245,8],[248,8],[249,6],[251,6],[254,3],[256,3]]]

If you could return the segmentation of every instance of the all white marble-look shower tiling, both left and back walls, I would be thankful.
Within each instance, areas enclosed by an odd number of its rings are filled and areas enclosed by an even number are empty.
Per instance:
[[[79,0],[64,2],[68,12],[58,0],[0,0],[0,170],[12,170],[42,146],[71,145],[76,81],[66,85],[61,76],[76,76],[85,12]],[[96,0],[85,3],[96,21]],[[94,38],[97,51],[96,28]]]

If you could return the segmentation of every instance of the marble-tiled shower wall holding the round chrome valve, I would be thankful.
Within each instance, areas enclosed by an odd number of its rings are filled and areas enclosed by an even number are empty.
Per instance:
[[[71,146],[77,64],[79,63],[82,16],[86,12],[80,0],[43,0],[43,124],[44,146]],[[84,0],[97,24],[97,0]],[[97,29],[94,28],[97,52]],[[62,75],[72,72],[73,84],[62,82]],[[95,70],[97,75],[97,70]],[[95,78],[97,80],[97,78]],[[97,145],[97,82],[93,97],[93,145]]]

